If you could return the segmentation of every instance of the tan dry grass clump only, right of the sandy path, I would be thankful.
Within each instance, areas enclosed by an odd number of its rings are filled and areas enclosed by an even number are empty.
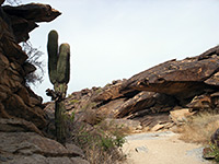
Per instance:
[[[203,113],[191,117],[185,125],[175,130],[180,139],[187,142],[207,144],[211,134],[219,128],[219,115]]]

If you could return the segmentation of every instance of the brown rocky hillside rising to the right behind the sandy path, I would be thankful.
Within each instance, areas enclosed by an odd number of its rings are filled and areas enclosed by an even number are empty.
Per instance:
[[[170,128],[173,121],[180,124],[199,110],[218,113],[218,89],[219,46],[216,46],[199,56],[163,62],[128,80],[73,92],[66,105],[69,114],[78,114],[78,119],[89,124],[104,118],[129,119],[154,130]],[[49,108],[53,109],[53,103]],[[96,122],[88,116],[96,117]]]

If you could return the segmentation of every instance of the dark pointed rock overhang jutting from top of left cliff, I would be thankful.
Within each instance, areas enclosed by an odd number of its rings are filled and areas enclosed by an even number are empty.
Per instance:
[[[16,42],[25,42],[28,33],[38,25],[36,22],[50,22],[61,13],[48,4],[30,3],[19,7],[2,7],[13,30]]]

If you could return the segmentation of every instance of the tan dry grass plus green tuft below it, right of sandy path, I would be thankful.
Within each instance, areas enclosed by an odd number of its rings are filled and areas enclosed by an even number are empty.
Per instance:
[[[219,114],[199,113],[188,118],[182,126],[175,129],[181,133],[180,139],[194,142],[205,147],[204,157],[214,159],[219,162],[219,149],[212,143],[212,134],[219,128]]]

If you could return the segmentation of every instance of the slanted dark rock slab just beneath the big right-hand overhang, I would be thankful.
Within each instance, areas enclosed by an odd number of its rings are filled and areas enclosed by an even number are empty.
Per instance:
[[[175,105],[176,101],[172,96],[142,91],[118,106],[115,109],[115,116],[118,118],[123,118],[125,116],[136,118],[146,114],[169,112]]]

